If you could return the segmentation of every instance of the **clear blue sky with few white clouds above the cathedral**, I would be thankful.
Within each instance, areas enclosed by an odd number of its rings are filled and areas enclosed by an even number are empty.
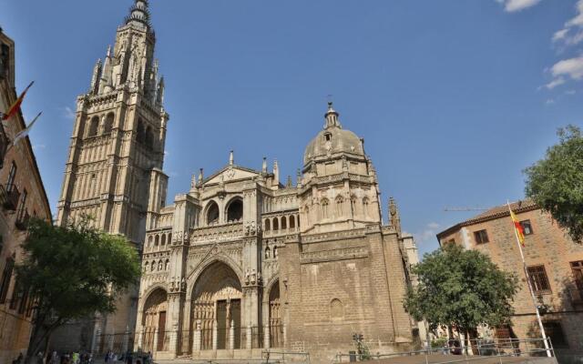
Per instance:
[[[131,0],[0,0],[53,212],[73,110]],[[422,252],[524,196],[522,169],[583,118],[583,0],[152,0],[170,114],[169,196],[228,162],[295,176],[332,94]],[[580,43],[579,43],[580,42]],[[295,178],[294,178],[295,179]],[[384,213],[386,216],[386,213]]]

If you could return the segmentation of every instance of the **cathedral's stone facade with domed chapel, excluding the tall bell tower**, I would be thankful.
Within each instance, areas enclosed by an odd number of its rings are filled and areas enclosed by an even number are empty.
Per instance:
[[[271,349],[332,359],[363,334],[373,352],[414,344],[398,210],[384,226],[363,139],[329,104],[297,183],[229,163],[164,206],[150,188],[135,347],[155,358],[261,358]],[[411,248],[412,241],[409,241]]]

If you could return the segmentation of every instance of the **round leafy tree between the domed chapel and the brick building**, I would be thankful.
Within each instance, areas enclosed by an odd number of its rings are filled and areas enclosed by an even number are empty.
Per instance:
[[[475,332],[480,325],[510,323],[518,279],[500,270],[476,250],[447,244],[413,267],[418,284],[410,288],[404,308],[429,328],[455,328]]]

